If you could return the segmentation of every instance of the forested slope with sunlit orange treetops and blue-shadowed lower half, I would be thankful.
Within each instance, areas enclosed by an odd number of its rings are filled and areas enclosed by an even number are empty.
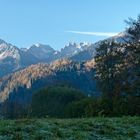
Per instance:
[[[49,65],[31,65],[0,79],[0,102],[18,99],[22,103],[40,88],[58,84],[68,84],[87,94],[97,95],[93,67],[93,61],[78,63],[67,59]]]

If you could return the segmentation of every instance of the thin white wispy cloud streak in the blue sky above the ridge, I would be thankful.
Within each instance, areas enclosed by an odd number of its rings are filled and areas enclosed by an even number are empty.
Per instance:
[[[104,37],[111,37],[118,34],[114,32],[82,32],[82,31],[66,31],[66,32],[81,34],[81,35],[93,35],[93,36],[104,36]]]

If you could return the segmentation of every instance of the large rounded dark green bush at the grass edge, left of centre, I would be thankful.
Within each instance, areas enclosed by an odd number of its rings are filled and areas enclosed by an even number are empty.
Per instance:
[[[36,117],[64,117],[67,105],[86,96],[71,87],[49,87],[33,95],[31,110]]]

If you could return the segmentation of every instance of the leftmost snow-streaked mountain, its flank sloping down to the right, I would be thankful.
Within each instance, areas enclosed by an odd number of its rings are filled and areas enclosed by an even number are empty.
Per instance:
[[[0,77],[38,62],[32,54],[0,40]]]

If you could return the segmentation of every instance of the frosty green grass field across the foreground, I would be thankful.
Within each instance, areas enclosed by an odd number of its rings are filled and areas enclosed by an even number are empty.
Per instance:
[[[140,140],[140,117],[0,120],[0,140]]]

